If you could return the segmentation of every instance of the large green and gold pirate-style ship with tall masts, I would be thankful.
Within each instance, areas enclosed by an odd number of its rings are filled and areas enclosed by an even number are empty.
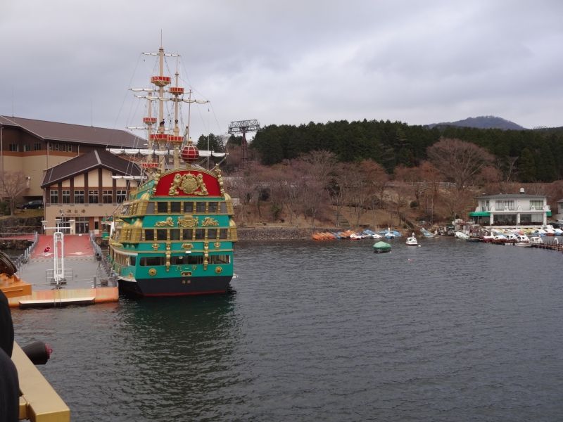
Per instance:
[[[148,148],[139,151],[145,157],[144,180],[132,188],[114,215],[108,260],[124,293],[224,293],[233,278],[237,240],[232,200],[224,191],[219,165],[211,170],[201,166],[198,148],[189,139],[189,126],[183,136],[179,134],[179,104],[197,101],[191,91],[184,98],[177,72],[176,86],[165,90],[172,79],[163,75],[164,57],[160,47],[160,75],[151,77],[153,88],[144,89],[153,93],[146,97],[148,116],[143,118]],[[175,104],[172,129],[165,128],[163,102],[167,100]],[[151,101],[158,101],[158,120],[151,115]]]

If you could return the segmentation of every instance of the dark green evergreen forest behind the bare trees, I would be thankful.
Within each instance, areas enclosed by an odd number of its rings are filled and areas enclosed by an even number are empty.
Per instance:
[[[372,159],[388,174],[417,167],[426,148],[441,138],[475,143],[494,155],[503,179],[550,182],[563,179],[563,130],[502,130],[454,126],[410,126],[402,122],[346,120],[264,127],[251,142],[262,164],[273,165],[310,151],[330,151],[341,162]]]

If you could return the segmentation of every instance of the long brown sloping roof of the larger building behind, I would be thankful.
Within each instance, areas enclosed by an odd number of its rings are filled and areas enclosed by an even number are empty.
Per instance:
[[[146,141],[125,130],[47,122],[24,117],[0,116],[0,126],[19,127],[44,141],[83,143],[96,146],[142,148]]]

